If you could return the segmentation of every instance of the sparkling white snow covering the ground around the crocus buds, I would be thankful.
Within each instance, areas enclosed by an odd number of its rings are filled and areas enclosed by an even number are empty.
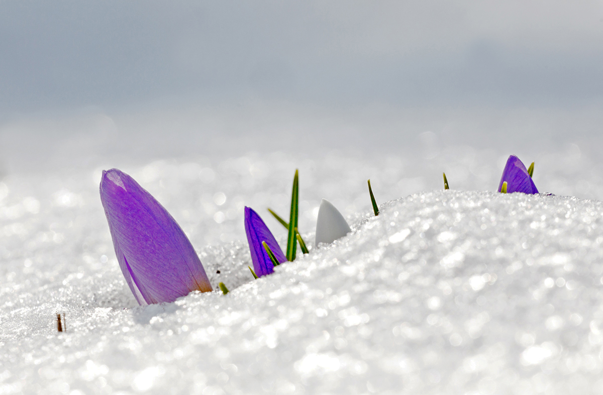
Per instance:
[[[508,153],[420,155],[122,168],[181,224],[214,288],[231,290],[145,308],[115,259],[101,168],[8,175],[0,394],[603,392],[603,203],[559,195],[601,198],[584,166],[598,162],[568,146],[535,158],[538,189],[557,196],[502,195],[483,190]],[[284,245],[265,207],[288,213],[296,167],[306,241],[323,197],[353,232],[253,280],[243,207]],[[453,190],[440,189],[443,170]],[[391,200],[377,217],[368,177],[377,202]]]

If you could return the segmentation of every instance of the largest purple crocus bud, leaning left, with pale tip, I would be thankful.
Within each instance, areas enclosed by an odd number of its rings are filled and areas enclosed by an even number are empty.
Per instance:
[[[151,194],[118,169],[103,171],[100,190],[119,267],[140,305],[212,291],[191,242]]]

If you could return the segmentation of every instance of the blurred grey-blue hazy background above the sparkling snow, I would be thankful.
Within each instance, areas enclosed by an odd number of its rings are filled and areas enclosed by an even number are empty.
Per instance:
[[[602,0],[0,0],[0,172],[292,148],[598,156],[602,65]]]

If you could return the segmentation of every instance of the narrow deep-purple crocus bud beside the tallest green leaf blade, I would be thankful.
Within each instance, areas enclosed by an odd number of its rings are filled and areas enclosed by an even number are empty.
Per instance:
[[[262,241],[268,244],[277,261],[281,264],[287,261],[283,250],[280,249],[279,243],[274,239],[270,229],[268,229],[262,218],[253,209],[250,209],[250,207],[245,207],[245,233],[247,233],[247,242],[251,251],[253,270],[256,272],[257,277],[265,276],[274,271],[274,265],[270,261],[270,256],[268,256],[262,245]]]

